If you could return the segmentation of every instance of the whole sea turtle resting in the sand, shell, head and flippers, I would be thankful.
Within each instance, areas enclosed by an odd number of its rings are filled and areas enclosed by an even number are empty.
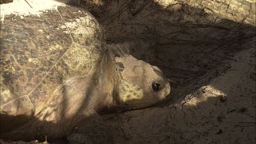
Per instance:
[[[115,57],[85,10],[66,5],[1,23],[1,138],[113,143],[99,111],[142,109],[169,92],[156,66]]]

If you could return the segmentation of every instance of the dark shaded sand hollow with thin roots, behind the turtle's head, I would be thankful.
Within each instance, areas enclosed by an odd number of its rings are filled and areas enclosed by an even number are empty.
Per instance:
[[[238,61],[233,56],[245,49],[242,44],[256,35],[251,25],[177,2],[81,1],[81,5],[97,18],[109,44],[137,40],[150,43],[144,49],[134,48],[132,55],[158,66],[177,83],[171,91],[171,102],[183,100],[223,74],[231,62]],[[137,54],[140,51],[143,55]]]

